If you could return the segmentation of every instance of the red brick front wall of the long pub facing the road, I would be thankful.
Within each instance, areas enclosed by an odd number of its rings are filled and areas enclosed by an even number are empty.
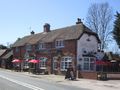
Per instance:
[[[36,54],[37,58],[47,57],[48,58],[48,62],[49,62],[49,65],[47,66],[47,69],[48,69],[49,73],[52,70],[52,61],[51,60],[53,59],[54,56],[57,56],[58,50],[60,50],[61,53],[62,53],[61,57],[62,56],[72,56],[72,57],[74,57],[73,58],[73,64],[74,64],[74,66],[76,66],[76,40],[68,40],[68,41],[65,41],[64,44],[65,44],[65,47],[58,49],[58,48],[55,48],[55,43],[54,42],[47,43],[46,44],[46,48],[47,49],[45,49],[46,51],[43,50],[43,52],[42,51],[35,51],[35,45],[34,45],[34,46],[32,46],[32,51],[30,51],[29,54],[34,53],[34,54]],[[48,50],[50,50],[50,52]],[[25,52],[26,51],[25,51],[25,47],[24,46],[19,47],[19,52],[17,52],[17,53],[15,51],[15,48],[13,48],[14,58],[15,57],[24,58]],[[59,63],[60,62],[61,61],[59,60]],[[59,66],[59,68],[60,68],[60,66]],[[60,71],[60,69],[58,69],[57,72],[59,74],[63,74]]]

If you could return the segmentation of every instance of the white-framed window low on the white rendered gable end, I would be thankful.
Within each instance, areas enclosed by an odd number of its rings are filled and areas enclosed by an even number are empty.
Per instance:
[[[95,71],[95,62],[94,61],[95,61],[94,57],[84,57],[83,58],[83,70],[84,71]],[[88,66],[86,67],[85,64],[86,65],[88,64]]]

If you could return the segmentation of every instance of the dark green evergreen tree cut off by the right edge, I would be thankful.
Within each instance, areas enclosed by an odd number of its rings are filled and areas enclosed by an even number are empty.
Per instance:
[[[116,13],[116,20],[114,22],[113,37],[120,48],[120,13]]]

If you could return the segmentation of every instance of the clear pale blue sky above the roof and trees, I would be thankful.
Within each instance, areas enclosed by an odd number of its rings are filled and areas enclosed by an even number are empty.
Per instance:
[[[77,18],[85,22],[90,5],[104,2],[120,12],[120,0],[0,0],[0,44],[42,32],[45,23],[53,30],[74,25]]]

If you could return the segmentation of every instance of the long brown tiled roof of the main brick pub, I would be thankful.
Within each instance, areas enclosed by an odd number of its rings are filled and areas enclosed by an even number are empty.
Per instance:
[[[65,28],[51,30],[50,32],[42,32],[34,35],[25,36],[22,39],[17,40],[13,44],[13,47],[24,46],[25,44],[36,44],[37,42],[53,42],[56,39],[78,39],[84,32],[94,34],[97,37],[98,41],[100,41],[96,33],[89,30],[83,24],[76,24]]]

